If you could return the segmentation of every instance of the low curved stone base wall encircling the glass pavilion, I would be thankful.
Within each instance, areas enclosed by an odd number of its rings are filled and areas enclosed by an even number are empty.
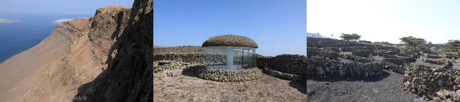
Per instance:
[[[198,70],[198,77],[218,82],[242,82],[259,79],[262,77],[262,70],[256,67],[239,70],[201,68]]]

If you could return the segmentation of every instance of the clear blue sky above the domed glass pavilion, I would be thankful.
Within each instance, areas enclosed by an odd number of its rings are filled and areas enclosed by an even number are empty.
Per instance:
[[[216,35],[251,38],[265,56],[306,52],[305,0],[154,1],[153,44],[201,44]]]

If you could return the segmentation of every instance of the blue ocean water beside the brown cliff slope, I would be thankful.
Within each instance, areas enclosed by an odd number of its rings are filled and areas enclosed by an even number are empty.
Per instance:
[[[32,48],[48,37],[57,25],[53,21],[92,16],[94,13],[90,12],[0,12],[0,19],[23,20],[14,23],[0,23],[0,63]]]

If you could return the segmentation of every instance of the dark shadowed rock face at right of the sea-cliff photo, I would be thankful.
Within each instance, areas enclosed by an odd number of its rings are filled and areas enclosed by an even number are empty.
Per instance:
[[[153,1],[134,1],[133,8],[118,13],[97,13],[101,18],[115,17],[108,28],[91,27],[109,33],[89,34],[94,43],[110,46],[107,70],[93,82],[78,88],[76,97],[87,96],[90,101],[152,101],[153,100]],[[113,9],[112,9],[113,10]],[[102,14],[102,15],[99,15]],[[121,19],[121,20],[120,20]],[[124,19],[127,19],[125,21]],[[105,22],[105,19],[100,22]],[[105,24],[105,23],[103,23]],[[106,27],[105,27],[106,28]],[[113,31],[114,30],[114,31]],[[91,30],[90,30],[91,31]],[[113,33],[110,35],[111,31]],[[103,34],[103,35],[99,35]],[[110,36],[108,36],[110,35]],[[110,37],[110,38],[109,38]],[[110,39],[110,41],[104,40]],[[111,43],[113,41],[113,43]]]

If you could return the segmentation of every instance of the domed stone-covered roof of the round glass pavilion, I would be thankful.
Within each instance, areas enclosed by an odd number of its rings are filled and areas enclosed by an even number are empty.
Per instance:
[[[248,37],[238,35],[219,35],[209,38],[203,42],[202,47],[207,46],[243,46],[258,48],[256,41]]]

